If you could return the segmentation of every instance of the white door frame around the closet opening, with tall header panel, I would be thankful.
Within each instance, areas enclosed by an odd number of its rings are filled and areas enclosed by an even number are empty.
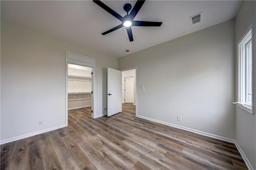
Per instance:
[[[94,111],[95,109],[95,101],[96,101],[96,97],[95,97],[95,91],[94,89],[96,89],[95,87],[95,59],[85,56],[85,55],[81,55],[78,53],[73,53],[70,51],[66,51],[66,110],[65,110],[65,126],[68,126],[68,63],[70,64],[75,64],[75,65],[82,65],[85,67],[91,67],[92,68],[92,119],[94,119]]]

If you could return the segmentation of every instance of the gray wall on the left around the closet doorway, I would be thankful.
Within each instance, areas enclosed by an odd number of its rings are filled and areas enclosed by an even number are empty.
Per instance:
[[[95,58],[102,115],[107,67],[117,69],[117,59],[1,18],[1,141],[65,125],[66,50]]]

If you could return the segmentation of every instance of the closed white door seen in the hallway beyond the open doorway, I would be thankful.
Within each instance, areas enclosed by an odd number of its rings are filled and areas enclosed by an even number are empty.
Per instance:
[[[124,78],[124,103],[133,103],[134,102],[134,81],[133,77]]]

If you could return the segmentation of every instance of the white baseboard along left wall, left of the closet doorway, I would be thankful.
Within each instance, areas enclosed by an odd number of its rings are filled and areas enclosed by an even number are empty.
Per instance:
[[[56,130],[56,129],[64,128],[64,127],[67,127],[67,126],[66,125],[60,125],[60,126],[56,126],[56,127],[52,127],[52,128],[47,128],[47,129],[44,129],[44,130],[39,130],[39,131],[28,133],[28,134],[23,134],[23,135],[16,136],[16,137],[13,137],[13,138],[8,138],[8,139],[5,139],[5,140],[1,140],[0,144],[5,144],[5,143],[13,142],[15,140],[24,139],[24,138],[27,138],[27,137],[30,137],[30,136],[34,136],[34,135],[37,135],[37,134],[42,134],[42,133],[45,133],[45,132],[50,132],[52,130]]]

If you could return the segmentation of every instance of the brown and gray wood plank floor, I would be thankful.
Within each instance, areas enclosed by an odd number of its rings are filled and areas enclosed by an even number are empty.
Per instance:
[[[7,144],[1,170],[247,169],[234,144],[135,117],[135,107],[90,118],[68,111],[68,127]]]

